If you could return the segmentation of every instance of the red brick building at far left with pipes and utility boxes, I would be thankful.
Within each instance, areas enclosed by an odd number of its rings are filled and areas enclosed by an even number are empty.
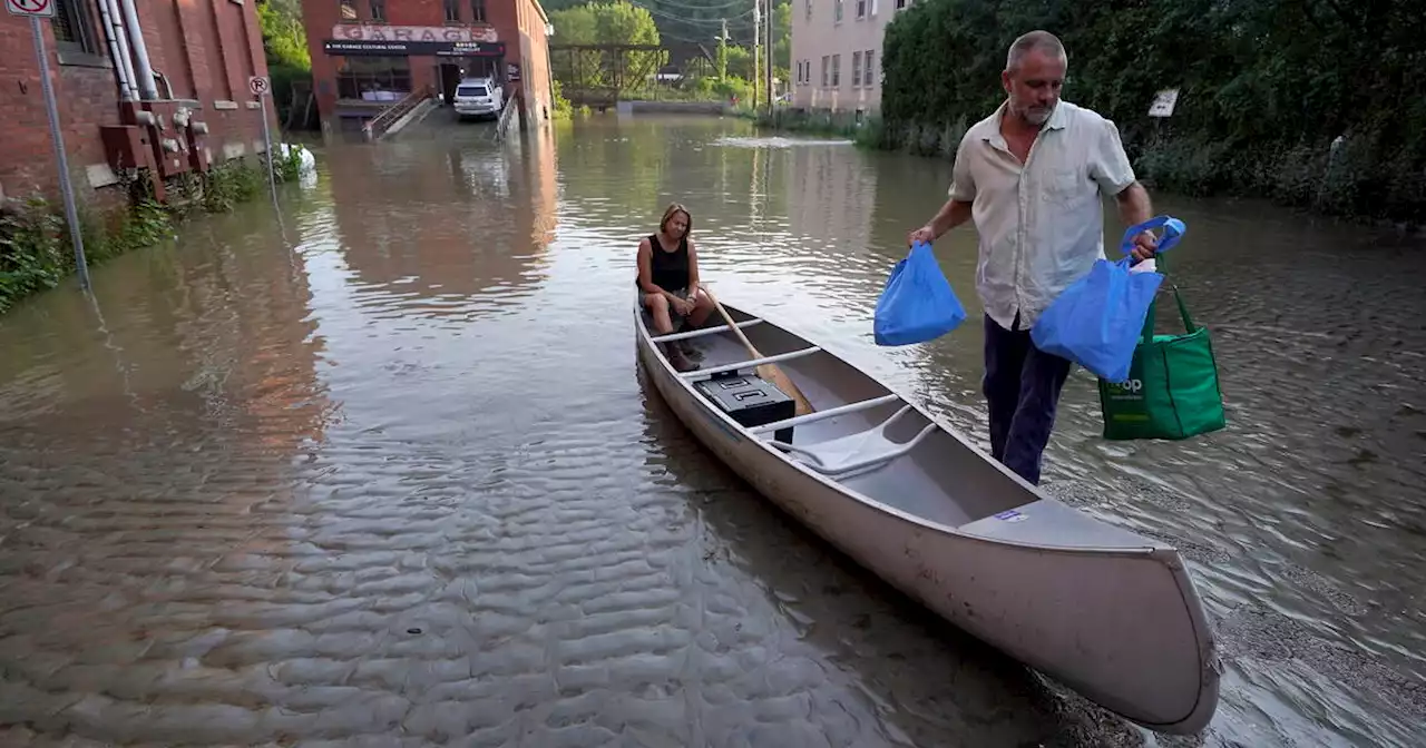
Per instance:
[[[56,17],[41,27],[78,202],[121,204],[120,177],[144,168],[163,177],[154,180],[163,198],[167,178],[262,150],[248,78],[268,71],[252,1],[51,3]],[[58,205],[29,19],[0,13],[0,111],[10,125],[0,191],[40,191]]]

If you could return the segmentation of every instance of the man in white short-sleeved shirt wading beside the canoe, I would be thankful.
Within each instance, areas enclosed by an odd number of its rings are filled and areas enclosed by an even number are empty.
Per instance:
[[[1064,46],[1048,31],[1010,46],[1005,103],[965,131],[950,199],[907,237],[930,244],[975,222],[991,456],[1034,484],[1071,363],[1037,349],[1030,328],[1104,256],[1101,195],[1114,195],[1127,227],[1152,217],[1114,123],[1060,101],[1067,68]],[[1134,242],[1135,259],[1154,255],[1152,234]]]

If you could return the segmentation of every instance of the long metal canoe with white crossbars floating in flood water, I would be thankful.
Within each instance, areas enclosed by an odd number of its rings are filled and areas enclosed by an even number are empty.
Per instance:
[[[635,305],[640,365],[714,456],[893,587],[1085,698],[1159,732],[1208,725],[1219,658],[1174,547],[1047,496],[834,353],[723,306],[759,358],[719,315],[655,336]],[[672,342],[702,368],[677,372]],[[816,412],[744,426],[697,388],[761,363]]]

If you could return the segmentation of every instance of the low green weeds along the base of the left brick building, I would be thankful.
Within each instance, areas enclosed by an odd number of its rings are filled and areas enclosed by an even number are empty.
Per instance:
[[[278,157],[277,180],[295,181],[301,160],[295,148]],[[151,246],[173,237],[173,227],[200,209],[208,214],[231,211],[262,194],[267,184],[265,160],[228,161],[208,174],[175,180],[168,204],[153,198],[147,181],[127,181],[131,204],[110,219],[101,221],[90,211],[80,212],[84,258],[98,265],[131,249]],[[74,252],[61,214],[63,207],[43,195],[10,198],[0,204],[0,313],[26,296],[60,285],[74,272]]]

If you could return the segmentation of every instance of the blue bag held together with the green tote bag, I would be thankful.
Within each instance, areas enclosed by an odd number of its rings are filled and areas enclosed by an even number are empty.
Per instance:
[[[1182,221],[1166,215],[1125,231],[1119,242],[1122,259],[1097,259],[1088,275],[1071,284],[1040,315],[1030,329],[1035,348],[1067,358],[1108,382],[1128,379],[1144,318],[1164,282],[1158,272],[1129,272],[1134,258],[1128,254],[1134,249],[1134,237],[1159,227],[1164,237],[1155,254],[1178,244],[1185,231]]]

